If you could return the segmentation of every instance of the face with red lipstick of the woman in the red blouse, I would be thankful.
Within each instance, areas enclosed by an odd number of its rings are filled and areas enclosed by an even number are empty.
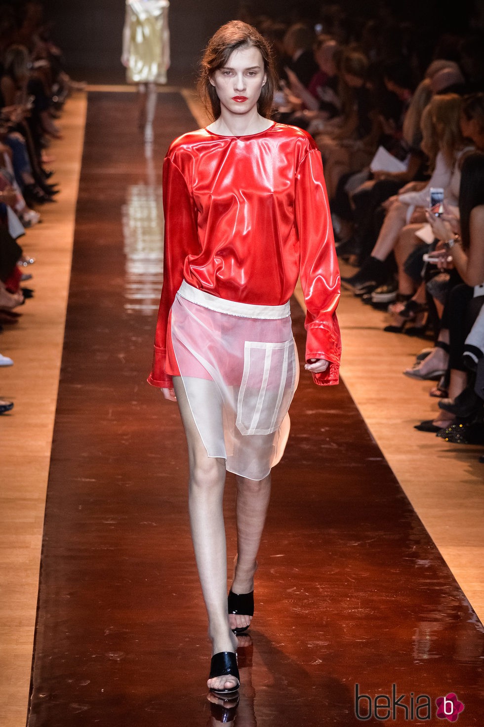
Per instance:
[[[265,81],[264,61],[254,46],[233,51],[227,65],[218,68],[210,79],[220,105],[231,113],[251,111],[257,105]]]

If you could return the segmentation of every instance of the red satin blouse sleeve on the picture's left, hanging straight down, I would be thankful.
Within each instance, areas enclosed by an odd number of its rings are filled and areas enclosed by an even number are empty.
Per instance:
[[[173,379],[166,374],[166,332],[174,297],[183,280],[187,255],[198,249],[195,208],[180,169],[166,157],[163,167],[163,209],[165,217],[164,273],[158,321],[156,323],[153,366],[148,383],[172,387]]]

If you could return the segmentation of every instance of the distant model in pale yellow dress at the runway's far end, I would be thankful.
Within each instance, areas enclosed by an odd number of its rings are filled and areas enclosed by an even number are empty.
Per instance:
[[[156,84],[166,84],[170,65],[168,0],[126,0],[121,63],[126,81],[138,84],[140,129],[153,142]]]

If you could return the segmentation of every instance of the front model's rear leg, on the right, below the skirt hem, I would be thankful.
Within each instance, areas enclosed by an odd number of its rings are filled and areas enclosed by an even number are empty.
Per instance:
[[[270,500],[270,475],[263,480],[236,477],[237,481],[237,561],[232,582],[233,593],[254,590],[262,531]],[[249,626],[252,616],[230,614],[230,628]]]

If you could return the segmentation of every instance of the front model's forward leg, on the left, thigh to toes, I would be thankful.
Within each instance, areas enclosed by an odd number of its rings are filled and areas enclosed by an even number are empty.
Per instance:
[[[223,516],[225,461],[209,457],[187,401],[180,377],[174,377],[174,390],[188,444],[190,483],[188,507],[193,549],[200,577],[203,600],[209,616],[212,655],[233,651],[237,638],[230,630],[227,614],[227,550]],[[237,686],[231,676],[209,679],[209,688],[230,689]]]

